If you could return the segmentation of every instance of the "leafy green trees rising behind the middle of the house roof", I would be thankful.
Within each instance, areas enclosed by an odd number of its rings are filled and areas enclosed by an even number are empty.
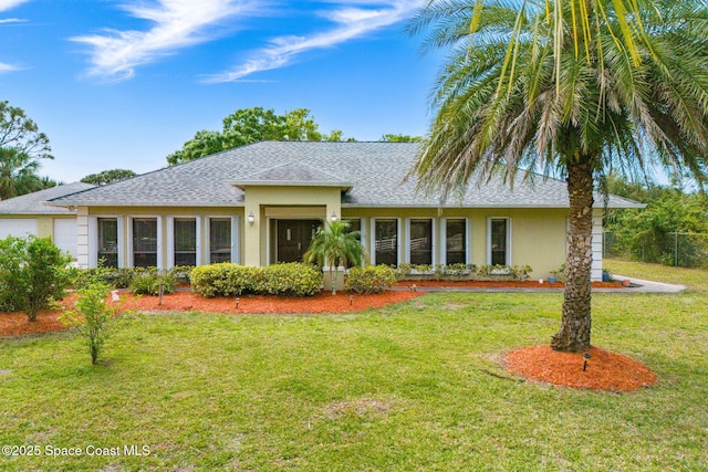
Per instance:
[[[339,141],[342,132],[330,135],[320,133],[308,108],[296,108],[278,115],[262,107],[241,108],[222,120],[221,132],[200,130],[183,148],[167,156],[167,164],[175,166],[210,154],[261,140]]]

